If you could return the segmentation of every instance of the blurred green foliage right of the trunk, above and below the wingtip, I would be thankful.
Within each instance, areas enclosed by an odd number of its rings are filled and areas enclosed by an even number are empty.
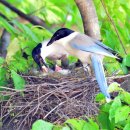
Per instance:
[[[101,0],[94,0],[96,11],[98,14],[99,24],[101,28],[101,36],[103,42],[110,46],[112,49],[116,50],[121,56],[127,57],[124,54],[124,50],[120,44],[119,38],[116,34],[113,24],[109,20],[108,15],[101,3]],[[109,16],[113,20],[115,27],[118,30],[119,36],[123,42],[127,54],[130,54],[130,4],[129,0],[105,0],[106,10]],[[127,3],[127,4],[126,4]],[[109,63],[108,63],[109,62]],[[129,62],[129,63],[128,63]],[[130,64],[130,60],[127,65]],[[111,67],[112,66],[112,67]],[[128,69],[125,65],[119,65],[114,59],[105,59],[105,67],[109,73],[116,72],[118,70],[119,74],[128,74]]]

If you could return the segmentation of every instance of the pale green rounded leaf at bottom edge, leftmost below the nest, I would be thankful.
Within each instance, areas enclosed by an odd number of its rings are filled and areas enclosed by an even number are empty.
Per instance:
[[[37,120],[32,125],[32,130],[52,130],[53,124],[44,120]]]

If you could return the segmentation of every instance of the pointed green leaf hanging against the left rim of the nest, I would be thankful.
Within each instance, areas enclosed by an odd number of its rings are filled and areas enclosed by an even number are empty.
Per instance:
[[[25,80],[18,75],[14,70],[11,70],[11,77],[14,82],[14,86],[16,90],[23,90],[25,87]]]

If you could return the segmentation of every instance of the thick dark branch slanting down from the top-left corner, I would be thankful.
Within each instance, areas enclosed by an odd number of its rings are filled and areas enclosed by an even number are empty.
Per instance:
[[[32,23],[33,25],[40,25],[46,29],[48,29],[47,25],[43,22],[39,22],[36,19],[34,19],[31,16],[26,15],[25,13],[23,13],[22,11],[18,10],[17,8],[15,8],[14,6],[12,6],[11,4],[9,4],[7,1],[5,0],[0,0],[0,2],[5,5],[6,7],[8,7],[9,9],[11,9],[13,12],[15,12],[16,14],[18,14],[20,17],[26,19],[27,21],[29,21],[30,23]]]

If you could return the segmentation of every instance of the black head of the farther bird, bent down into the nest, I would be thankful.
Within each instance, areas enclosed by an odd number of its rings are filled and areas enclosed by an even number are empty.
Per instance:
[[[41,57],[41,48],[42,48],[42,44],[39,43],[32,51],[32,57],[34,61],[38,64],[40,70],[42,70],[43,65],[47,66]]]

